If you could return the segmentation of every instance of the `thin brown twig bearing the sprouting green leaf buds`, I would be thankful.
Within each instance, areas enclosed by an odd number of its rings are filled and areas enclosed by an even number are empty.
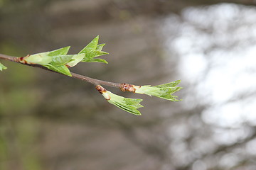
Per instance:
[[[0,54],[0,59],[3,59],[3,60],[8,60],[8,61],[11,61],[11,62],[17,62],[19,64],[24,64],[24,65],[27,65],[27,66],[31,66],[31,67],[38,67],[38,68],[41,68],[41,69],[46,69],[50,72],[55,72],[53,70],[50,70],[46,67],[43,67],[39,64],[27,64],[27,63],[21,63],[19,62],[19,58],[18,57],[12,57],[12,56],[9,56],[9,55],[2,55]],[[58,74],[61,74],[59,72],[55,72],[55,73],[58,73]],[[65,75],[65,74],[63,74]],[[75,79],[80,79],[82,81],[87,81],[91,84],[94,84],[95,86],[97,85],[105,85],[105,86],[112,86],[112,87],[116,87],[116,88],[121,88],[122,84],[118,84],[118,83],[113,83],[113,82],[109,82],[109,81],[103,81],[103,80],[98,80],[98,79],[92,79],[90,77],[85,77],[85,76],[82,76],[80,74],[75,74],[73,72],[71,72],[71,75],[73,78]]]

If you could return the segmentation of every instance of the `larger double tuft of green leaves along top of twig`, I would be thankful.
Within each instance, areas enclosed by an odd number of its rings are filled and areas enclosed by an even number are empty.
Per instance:
[[[24,61],[28,64],[40,64],[54,72],[59,72],[71,77],[69,67],[74,67],[79,62],[102,62],[107,64],[106,60],[96,58],[107,55],[102,51],[105,44],[98,45],[99,36],[94,38],[86,47],[84,47],[77,55],[68,55],[70,46],[63,47],[50,52],[41,52],[34,55],[24,57]]]

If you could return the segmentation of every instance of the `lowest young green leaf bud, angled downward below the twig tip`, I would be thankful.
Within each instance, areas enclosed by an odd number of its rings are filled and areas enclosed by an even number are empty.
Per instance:
[[[143,101],[140,98],[124,98],[116,94],[112,94],[110,91],[106,91],[102,94],[109,103],[121,108],[124,111],[132,113],[134,115],[142,115],[137,108],[142,108],[143,106],[139,104]]]

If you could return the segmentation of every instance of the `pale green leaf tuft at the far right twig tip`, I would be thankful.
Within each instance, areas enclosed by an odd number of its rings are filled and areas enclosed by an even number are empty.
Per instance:
[[[180,83],[180,80],[173,81],[168,84],[161,84],[158,86],[134,86],[137,94],[146,94],[149,96],[156,96],[159,98],[164,98],[169,101],[181,101],[177,99],[177,96],[173,96],[176,91],[182,89],[182,87],[176,86]]]

